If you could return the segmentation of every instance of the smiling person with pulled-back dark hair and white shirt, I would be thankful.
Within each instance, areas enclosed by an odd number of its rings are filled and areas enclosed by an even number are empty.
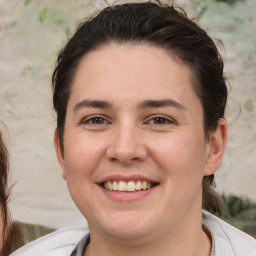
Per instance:
[[[53,90],[57,157],[90,233],[60,230],[13,255],[255,255],[253,238],[202,213],[215,205],[227,88],[213,40],[184,12],[104,9],[60,52]]]

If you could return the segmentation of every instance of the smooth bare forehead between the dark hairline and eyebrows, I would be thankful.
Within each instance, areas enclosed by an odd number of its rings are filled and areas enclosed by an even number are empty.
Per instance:
[[[74,75],[70,100],[113,101],[197,98],[191,70],[165,49],[149,45],[109,44],[86,54]],[[116,100],[117,98],[115,98]],[[198,99],[197,99],[198,100]]]

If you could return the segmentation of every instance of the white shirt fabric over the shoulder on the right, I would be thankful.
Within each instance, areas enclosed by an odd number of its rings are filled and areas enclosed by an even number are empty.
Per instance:
[[[203,211],[203,224],[212,233],[216,256],[256,256],[253,237],[206,211]]]

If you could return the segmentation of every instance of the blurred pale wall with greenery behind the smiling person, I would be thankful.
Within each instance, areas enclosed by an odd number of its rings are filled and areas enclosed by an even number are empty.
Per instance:
[[[49,231],[86,225],[55,157],[51,73],[76,25],[114,2],[0,0],[0,120],[6,125],[1,129],[11,156],[10,208],[15,221]],[[225,60],[229,138],[216,189],[228,205],[224,217],[256,235],[256,1],[174,3],[216,38]],[[33,225],[24,230],[35,236],[48,232]],[[25,240],[31,239],[28,235]]]

